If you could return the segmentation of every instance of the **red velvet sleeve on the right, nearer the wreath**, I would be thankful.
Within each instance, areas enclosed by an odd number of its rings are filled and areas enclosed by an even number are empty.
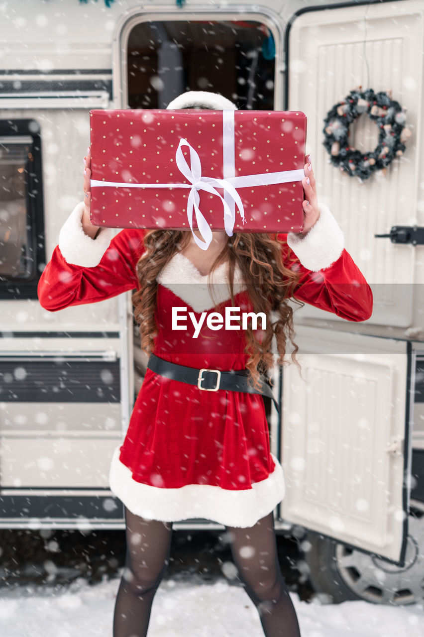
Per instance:
[[[279,237],[286,240],[286,234]],[[328,268],[314,272],[302,266],[293,250],[283,243],[283,262],[286,268],[300,273],[293,292],[295,299],[346,320],[362,321],[371,317],[371,287],[345,248]]]

